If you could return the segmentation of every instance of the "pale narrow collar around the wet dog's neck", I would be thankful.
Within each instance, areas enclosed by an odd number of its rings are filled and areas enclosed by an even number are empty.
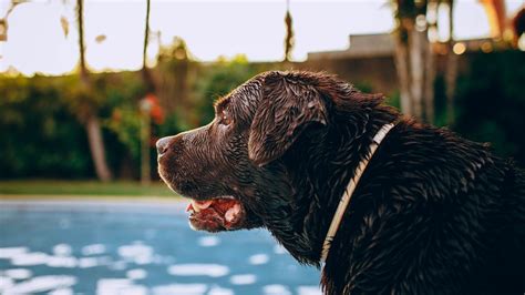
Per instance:
[[[344,211],[348,207],[348,204],[350,203],[350,199],[352,197],[353,191],[356,191],[356,187],[358,186],[359,180],[361,179],[361,175],[364,172],[364,169],[367,169],[368,163],[373,156],[373,153],[375,153],[375,150],[378,149],[379,144],[381,141],[387,136],[389,131],[394,126],[394,123],[389,123],[384,124],[378,133],[375,133],[375,136],[372,139],[372,143],[370,144],[370,152],[368,156],[366,156],[361,162],[359,162],[358,167],[356,169],[356,174],[353,175],[352,179],[350,179],[350,182],[347,185],[347,189],[344,190],[344,193],[342,194],[341,200],[339,201],[339,205],[336,210],[336,214],[333,214],[332,222],[330,223],[330,227],[328,227],[328,233],[327,236],[325,237],[325,242],[322,243],[322,251],[321,251],[321,263],[325,263],[328,257],[328,252],[330,251],[331,242],[333,241],[333,237],[337,234],[337,231],[339,230],[339,225],[341,224],[342,216],[344,214]]]

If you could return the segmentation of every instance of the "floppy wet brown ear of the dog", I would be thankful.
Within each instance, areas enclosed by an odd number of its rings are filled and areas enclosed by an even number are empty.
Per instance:
[[[319,91],[300,77],[269,73],[250,126],[249,159],[259,166],[278,159],[311,123],[327,124],[327,109]]]

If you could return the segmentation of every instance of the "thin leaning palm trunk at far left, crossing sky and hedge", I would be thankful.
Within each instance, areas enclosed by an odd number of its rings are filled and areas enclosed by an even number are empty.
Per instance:
[[[83,0],[76,0],[78,3],[78,20],[79,20],[79,48],[80,48],[80,78],[81,83],[85,90],[85,94],[91,95],[92,83],[90,80],[87,67],[85,65],[85,52],[84,52],[84,23],[83,23]],[[102,138],[101,126],[94,108],[89,103],[85,104],[85,118],[81,121],[84,124],[87,133],[87,141],[90,143],[91,157],[93,165],[95,166],[96,176],[101,181],[110,181],[112,179],[111,171],[105,160],[104,140]]]

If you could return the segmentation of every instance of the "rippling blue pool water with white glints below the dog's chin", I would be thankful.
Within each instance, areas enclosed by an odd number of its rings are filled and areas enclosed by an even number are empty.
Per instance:
[[[268,232],[194,232],[184,205],[1,201],[0,294],[320,294]]]

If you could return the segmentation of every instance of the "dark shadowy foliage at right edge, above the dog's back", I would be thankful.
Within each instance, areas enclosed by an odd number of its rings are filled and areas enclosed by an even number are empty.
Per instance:
[[[460,77],[453,129],[525,167],[525,53],[477,53]]]

